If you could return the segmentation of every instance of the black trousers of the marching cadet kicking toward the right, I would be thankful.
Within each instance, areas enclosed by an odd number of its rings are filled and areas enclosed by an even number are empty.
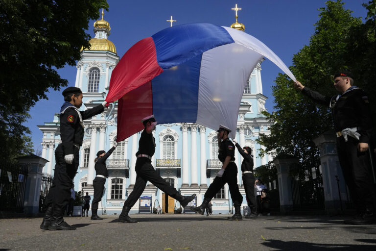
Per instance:
[[[179,195],[179,192],[174,187],[167,184],[166,181],[158,175],[157,171],[155,171],[151,165],[151,160],[148,158],[137,158],[135,169],[137,174],[135,187],[133,188],[132,193],[128,196],[128,199],[124,202],[124,206],[132,207],[137,202],[145,189],[147,181],[150,181],[153,185],[172,198],[176,199]]]

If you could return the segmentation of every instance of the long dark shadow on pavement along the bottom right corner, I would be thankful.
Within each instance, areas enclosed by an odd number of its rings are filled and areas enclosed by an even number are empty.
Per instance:
[[[280,241],[280,240],[265,240],[262,245],[276,249],[277,251],[291,251],[291,250],[309,250],[309,251],[349,251],[349,250],[361,250],[361,251],[375,251],[375,245],[352,245],[352,244],[317,244],[310,242],[300,241]]]

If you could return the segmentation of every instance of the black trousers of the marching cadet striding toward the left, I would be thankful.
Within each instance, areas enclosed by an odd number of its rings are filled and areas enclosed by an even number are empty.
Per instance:
[[[234,206],[241,206],[243,196],[241,196],[239,186],[237,185],[237,167],[234,162],[229,163],[222,177],[216,176],[214,178],[206,191],[204,198],[207,201],[211,201],[215,194],[218,193],[226,183],[229,185],[230,195],[234,202]]]

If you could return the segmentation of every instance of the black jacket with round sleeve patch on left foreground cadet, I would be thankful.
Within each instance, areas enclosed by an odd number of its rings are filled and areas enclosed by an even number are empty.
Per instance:
[[[103,105],[99,104],[92,109],[80,111],[80,113],[82,120],[86,120],[103,111]],[[81,125],[77,110],[73,107],[66,109],[63,114],[60,113],[60,138],[64,155],[73,154],[73,143],[82,146],[84,127]]]

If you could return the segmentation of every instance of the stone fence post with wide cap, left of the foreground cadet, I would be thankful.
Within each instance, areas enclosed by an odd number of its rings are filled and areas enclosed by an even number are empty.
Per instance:
[[[27,165],[28,169],[24,197],[24,213],[35,216],[39,212],[42,170],[48,160],[35,154],[19,157],[17,160],[20,165]]]

